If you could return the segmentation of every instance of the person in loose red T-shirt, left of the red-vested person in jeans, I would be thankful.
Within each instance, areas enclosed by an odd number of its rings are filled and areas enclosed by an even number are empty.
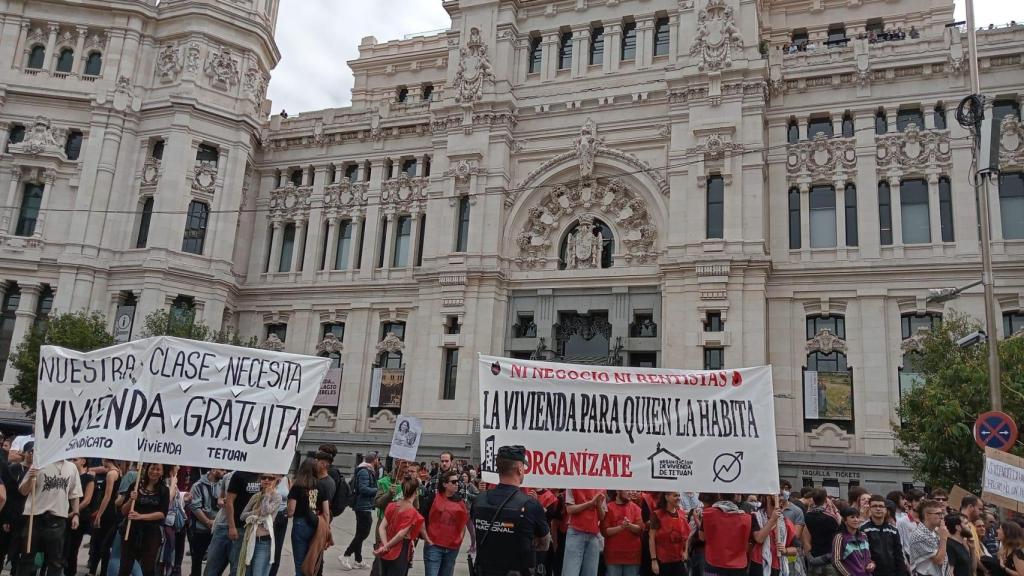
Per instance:
[[[377,528],[382,542],[374,553],[381,563],[381,576],[407,576],[413,560],[413,548],[423,528],[423,517],[414,503],[420,493],[420,481],[407,479],[401,483],[401,500],[391,502],[384,510],[384,520]]]

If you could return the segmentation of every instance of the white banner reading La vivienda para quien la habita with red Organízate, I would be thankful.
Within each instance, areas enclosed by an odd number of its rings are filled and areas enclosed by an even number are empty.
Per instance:
[[[479,357],[483,479],[526,447],[524,486],[778,492],[771,367],[694,371]]]

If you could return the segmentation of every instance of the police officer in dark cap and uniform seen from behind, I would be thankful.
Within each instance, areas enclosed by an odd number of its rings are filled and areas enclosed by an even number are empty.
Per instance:
[[[540,502],[519,489],[526,474],[526,449],[501,447],[497,467],[500,484],[473,503],[477,556],[471,576],[532,576],[536,552],[548,549],[551,532]]]

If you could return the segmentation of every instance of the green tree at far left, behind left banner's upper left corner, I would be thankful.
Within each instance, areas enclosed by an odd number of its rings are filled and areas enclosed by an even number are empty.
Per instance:
[[[17,381],[10,388],[10,400],[25,407],[30,415],[36,411],[39,347],[44,344],[89,352],[113,345],[114,336],[106,332],[106,319],[98,312],[58,314],[36,323],[11,357]]]

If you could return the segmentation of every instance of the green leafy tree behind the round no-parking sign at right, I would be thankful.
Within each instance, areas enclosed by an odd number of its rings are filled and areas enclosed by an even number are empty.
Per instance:
[[[922,340],[904,369],[924,376],[924,383],[901,400],[896,451],[930,486],[954,485],[977,493],[983,452],[974,442],[974,422],[991,409],[985,345],[959,347],[956,340],[981,326],[959,313],[947,314],[940,327]],[[1002,411],[1024,414],[1024,337],[999,342]],[[1022,456],[1018,444],[1014,451]]]

